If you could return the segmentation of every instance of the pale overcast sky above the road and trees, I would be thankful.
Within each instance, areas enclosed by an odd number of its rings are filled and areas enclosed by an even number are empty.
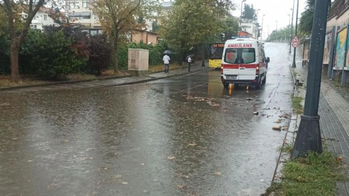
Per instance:
[[[269,33],[276,29],[276,20],[278,22],[278,29],[289,24],[288,14],[292,15],[292,10],[290,9],[293,7],[293,1],[294,0],[246,0],[244,3],[252,4],[255,9],[261,9],[258,11],[258,21],[260,24],[262,24],[262,16],[264,14],[266,15],[264,16],[262,35],[263,38],[266,38],[268,34],[268,26]],[[304,11],[305,1],[306,0],[299,0],[298,18],[300,18],[300,14]],[[240,17],[242,0],[232,0],[232,2],[236,5],[236,10],[232,11],[232,15]],[[296,24],[296,10],[297,0],[295,0],[294,24]]]

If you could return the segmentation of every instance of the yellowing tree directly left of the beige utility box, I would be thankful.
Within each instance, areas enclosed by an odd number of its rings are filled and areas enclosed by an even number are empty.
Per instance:
[[[114,72],[119,72],[118,47],[125,43],[134,29],[141,29],[144,23],[138,18],[151,18],[159,8],[158,0],[94,0],[92,10],[99,17],[102,29],[112,43]]]

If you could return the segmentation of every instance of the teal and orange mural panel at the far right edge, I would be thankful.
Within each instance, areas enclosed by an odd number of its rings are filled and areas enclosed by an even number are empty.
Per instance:
[[[343,69],[344,67],[344,59],[346,57],[346,47],[347,47],[347,36],[348,36],[348,28],[341,30],[337,33],[337,41],[336,41],[336,52],[334,54],[334,66],[333,69]]]

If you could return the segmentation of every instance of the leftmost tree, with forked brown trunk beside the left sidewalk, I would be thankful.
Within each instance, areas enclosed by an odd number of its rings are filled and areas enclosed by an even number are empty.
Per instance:
[[[11,80],[18,81],[20,72],[18,67],[18,53],[21,45],[27,37],[28,30],[32,19],[38,10],[50,0],[3,0],[0,3],[0,8],[5,11],[10,32],[10,61],[11,61]],[[57,6],[61,1],[54,1],[52,6]],[[22,17],[22,13],[27,15],[27,18]]]

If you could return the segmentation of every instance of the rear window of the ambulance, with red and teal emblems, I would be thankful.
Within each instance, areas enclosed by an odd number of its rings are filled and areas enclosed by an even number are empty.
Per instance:
[[[250,64],[256,61],[254,48],[227,48],[224,61],[230,64]]]

